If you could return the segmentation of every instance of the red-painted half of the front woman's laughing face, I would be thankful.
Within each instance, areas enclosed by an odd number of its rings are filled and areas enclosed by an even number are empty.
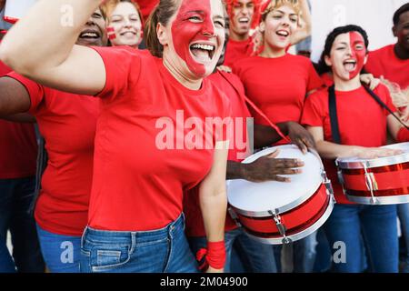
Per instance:
[[[190,45],[209,41],[205,35],[214,35],[210,0],[184,0],[172,25],[172,37],[176,54],[195,75],[205,75],[205,65],[195,61]]]

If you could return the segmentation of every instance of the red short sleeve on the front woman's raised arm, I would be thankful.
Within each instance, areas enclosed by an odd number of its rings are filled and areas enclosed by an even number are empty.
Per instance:
[[[141,51],[127,46],[92,48],[101,55],[106,74],[105,87],[97,97],[115,98],[135,85],[141,73]]]

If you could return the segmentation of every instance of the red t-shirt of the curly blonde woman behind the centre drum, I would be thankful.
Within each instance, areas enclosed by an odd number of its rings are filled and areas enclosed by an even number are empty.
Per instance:
[[[311,61],[300,55],[248,57],[233,69],[244,84],[245,94],[275,124],[299,122],[305,95],[323,85]],[[252,108],[250,112],[254,124],[269,125]]]

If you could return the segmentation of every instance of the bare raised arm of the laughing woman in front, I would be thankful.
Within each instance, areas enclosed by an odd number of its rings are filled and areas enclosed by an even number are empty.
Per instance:
[[[58,90],[95,95],[105,65],[95,50],[75,45],[101,0],[40,0],[5,35],[0,59],[17,73]]]

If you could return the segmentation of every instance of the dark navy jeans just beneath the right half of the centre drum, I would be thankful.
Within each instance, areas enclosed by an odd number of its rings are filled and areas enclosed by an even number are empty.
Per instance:
[[[316,232],[293,243],[293,273],[312,273],[314,271],[316,246]],[[281,266],[283,246],[273,247],[277,267],[280,272],[283,272],[283,266]]]

